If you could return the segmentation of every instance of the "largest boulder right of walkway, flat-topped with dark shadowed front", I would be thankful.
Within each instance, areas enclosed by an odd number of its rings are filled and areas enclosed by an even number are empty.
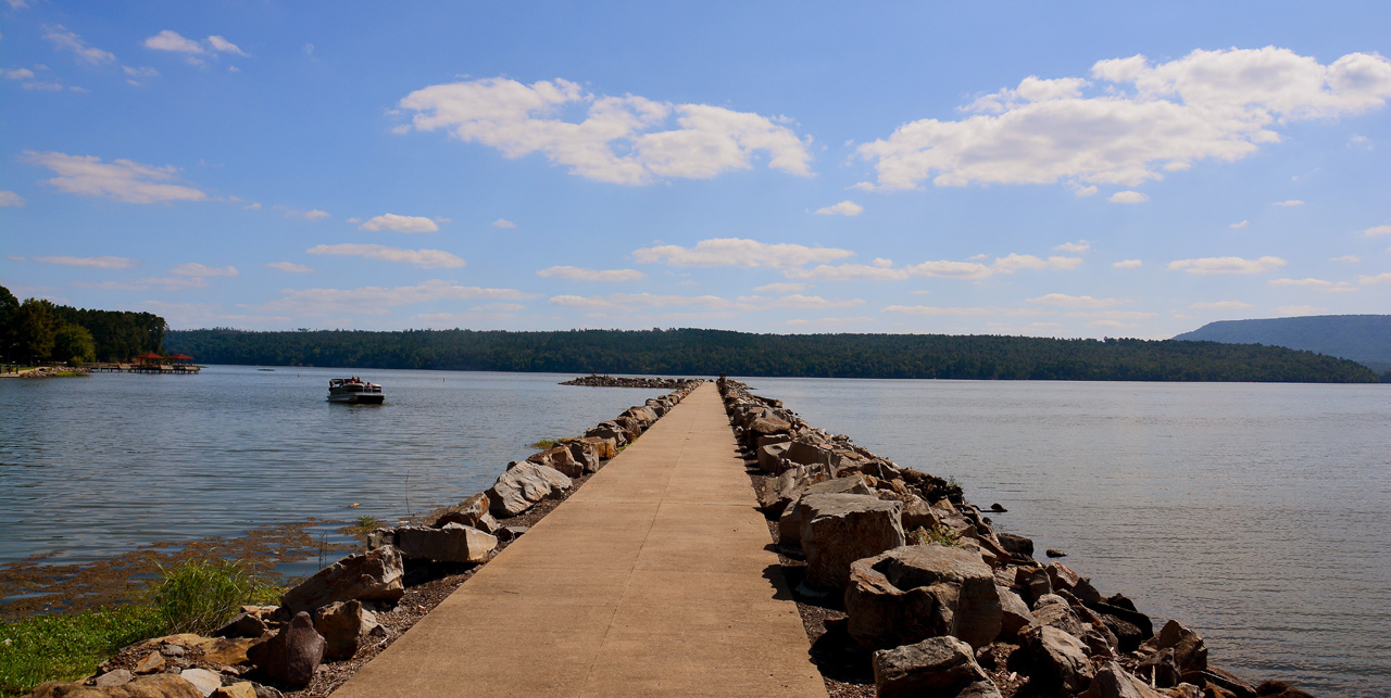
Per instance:
[[[869,649],[954,635],[982,648],[1000,635],[995,576],[981,556],[944,545],[906,545],[851,566],[850,637]]]

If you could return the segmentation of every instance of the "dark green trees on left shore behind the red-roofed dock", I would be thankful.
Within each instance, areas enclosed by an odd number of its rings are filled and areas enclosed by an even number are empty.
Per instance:
[[[167,328],[152,313],[85,310],[39,298],[21,303],[0,286],[0,359],[8,363],[124,362],[161,352]]]

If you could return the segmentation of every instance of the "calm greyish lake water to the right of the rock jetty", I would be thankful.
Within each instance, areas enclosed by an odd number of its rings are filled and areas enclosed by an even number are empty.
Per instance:
[[[748,378],[942,477],[1210,658],[1391,695],[1391,387]]]

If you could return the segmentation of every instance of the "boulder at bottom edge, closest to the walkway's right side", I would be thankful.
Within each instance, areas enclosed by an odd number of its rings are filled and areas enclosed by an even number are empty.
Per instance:
[[[954,637],[932,637],[874,654],[874,684],[879,698],[999,698],[1000,691],[971,645]]]

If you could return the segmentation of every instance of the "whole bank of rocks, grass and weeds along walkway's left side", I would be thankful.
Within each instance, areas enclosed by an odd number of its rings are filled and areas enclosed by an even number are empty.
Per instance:
[[[682,381],[583,437],[540,439],[542,451],[509,463],[487,492],[391,528],[371,516],[312,519],[63,570],[42,556],[0,566],[3,588],[26,596],[0,605],[0,698],[67,695],[72,680],[132,691],[202,680],[257,697],[328,695],[701,382]],[[323,559],[307,531],[323,524],[346,524],[341,533],[366,542],[366,552],[330,546],[355,553],[305,580],[270,578],[277,563],[316,551]],[[46,601],[56,594],[25,594],[49,591],[63,573],[57,606]],[[287,644],[298,641],[317,642],[307,672],[288,659],[299,648]]]

